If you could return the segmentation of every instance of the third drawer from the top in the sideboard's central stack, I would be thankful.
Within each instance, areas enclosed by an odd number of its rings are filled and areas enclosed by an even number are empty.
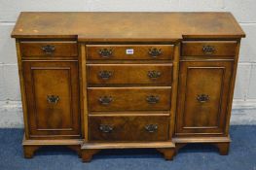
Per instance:
[[[90,111],[158,111],[170,109],[170,86],[89,87]]]

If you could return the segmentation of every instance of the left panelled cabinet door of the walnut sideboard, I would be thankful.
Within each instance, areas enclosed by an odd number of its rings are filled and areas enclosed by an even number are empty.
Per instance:
[[[24,61],[23,75],[29,136],[80,136],[78,63]]]

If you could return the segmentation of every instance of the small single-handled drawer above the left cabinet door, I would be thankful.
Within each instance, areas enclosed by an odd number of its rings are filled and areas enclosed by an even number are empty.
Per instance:
[[[21,42],[22,57],[77,57],[76,42]]]

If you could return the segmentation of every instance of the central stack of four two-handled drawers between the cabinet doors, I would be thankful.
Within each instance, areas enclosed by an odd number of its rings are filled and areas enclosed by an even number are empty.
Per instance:
[[[169,139],[172,45],[88,45],[89,142]]]

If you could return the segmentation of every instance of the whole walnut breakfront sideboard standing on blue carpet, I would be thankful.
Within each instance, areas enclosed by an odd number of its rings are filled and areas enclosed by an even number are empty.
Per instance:
[[[229,152],[240,39],[230,13],[21,13],[24,156],[188,143]]]

